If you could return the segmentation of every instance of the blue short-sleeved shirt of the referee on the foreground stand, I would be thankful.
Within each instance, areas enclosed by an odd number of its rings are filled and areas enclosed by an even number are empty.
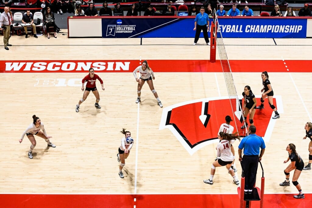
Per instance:
[[[265,149],[263,138],[257,136],[256,134],[250,134],[241,140],[238,145],[239,149],[244,149],[244,155],[259,155],[260,149]]]

